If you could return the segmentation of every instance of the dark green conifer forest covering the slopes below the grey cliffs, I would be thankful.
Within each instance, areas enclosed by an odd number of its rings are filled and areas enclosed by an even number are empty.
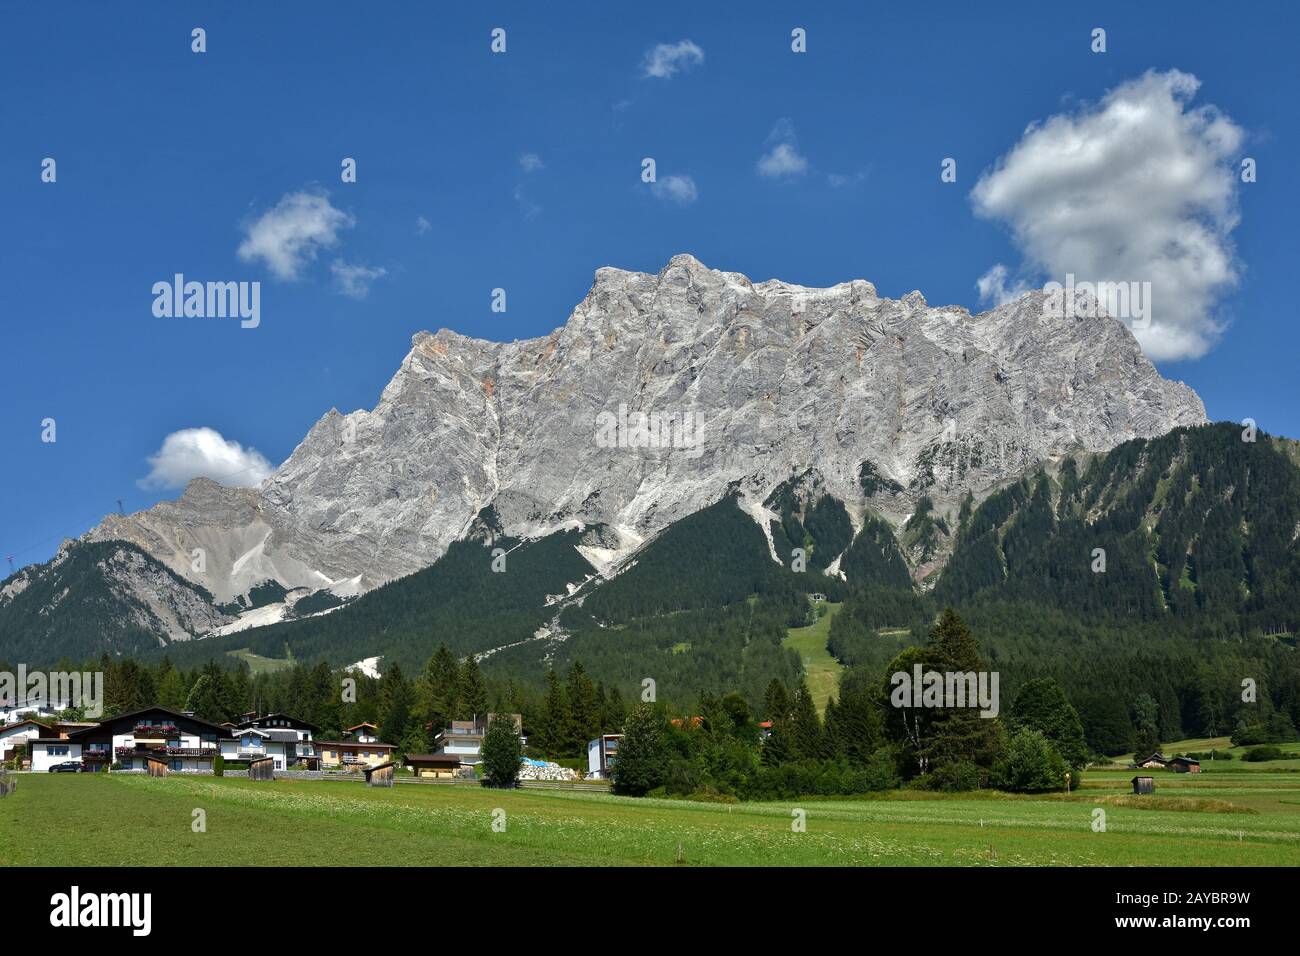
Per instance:
[[[900,548],[870,512],[854,535],[840,502],[779,489],[770,545],[731,496],[606,581],[575,549],[580,531],[489,533],[322,617],[61,663],[103,669],[109,710],[285,710],[324,732],[369,721],[403,752],[426,749],[446,721],[498,710],[524,714],[532,752],[549,758],[627,730],[625,792],[1039,790],[1135,747],[1296,737],[1294,444],[1178,429],[1039,470],[950,523],[923,503]],[[904,549],[928,558],[944,536],[937,583],[913,587]],[[507,551],[504,574],[486,570],[490,548]],[[803,571],[772,559],[793,548]],[[833,555],[842,578],[822,572]],[[558,600],[573,581],[585,581],[578,600]],[[845,669],[822,714],[783,645],[816,618],[814,592],[840,605],[827,648]],[[282,666],[254,674],[229,653],[244,649]],[[341,702],[341,669],[376,654],[382,678],[347,674],[356,698]],[[1004,714],[889,706],[889,675],[915,663],[997,671]],[[1256,700],[1243,700],[1247,680]]]

